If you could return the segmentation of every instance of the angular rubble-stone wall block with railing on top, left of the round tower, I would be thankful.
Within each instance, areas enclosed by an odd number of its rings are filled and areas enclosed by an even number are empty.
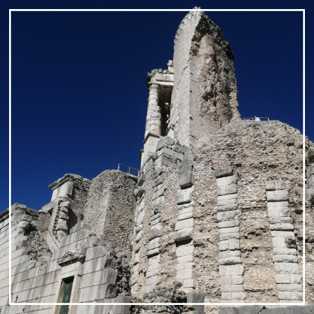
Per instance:
[[[102,239],[132,252],[136,177],[118,170],[105,170],[91,181],[84,223]]]

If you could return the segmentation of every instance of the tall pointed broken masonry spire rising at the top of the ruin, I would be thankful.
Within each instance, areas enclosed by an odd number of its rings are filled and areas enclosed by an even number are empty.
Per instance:
[[[179,25],[173,63],[170,127],[181,144],[190,146],[240,117],[230,45],[202,11],[188,13]]]

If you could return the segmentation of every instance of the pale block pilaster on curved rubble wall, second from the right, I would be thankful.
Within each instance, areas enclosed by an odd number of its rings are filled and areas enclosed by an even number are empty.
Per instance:
[[[244,267],[240,251],[239,216],[237,209],[237,170],[232,167],[215,170],[217,184],[217,220],[219,228],[219,275],[221,299],[226,302],[243,302]]]

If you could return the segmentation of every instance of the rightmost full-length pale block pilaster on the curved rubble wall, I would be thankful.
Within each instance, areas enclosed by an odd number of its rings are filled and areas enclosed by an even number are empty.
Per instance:
[[[266,181],[267,208],[274,246],[275,281],[281,303],[303,301],[302,277],[297,259],[288,191],[280,180]]]

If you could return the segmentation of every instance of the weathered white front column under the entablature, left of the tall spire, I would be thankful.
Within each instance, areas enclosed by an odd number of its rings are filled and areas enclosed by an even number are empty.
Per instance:
[[[158,105],[158,85],[152,84],[149,87],[149,104],[147,108],[147,118],[145,126],[145,136],[148,133],[156,135],[161,134],[161,114],[160,107]]]

